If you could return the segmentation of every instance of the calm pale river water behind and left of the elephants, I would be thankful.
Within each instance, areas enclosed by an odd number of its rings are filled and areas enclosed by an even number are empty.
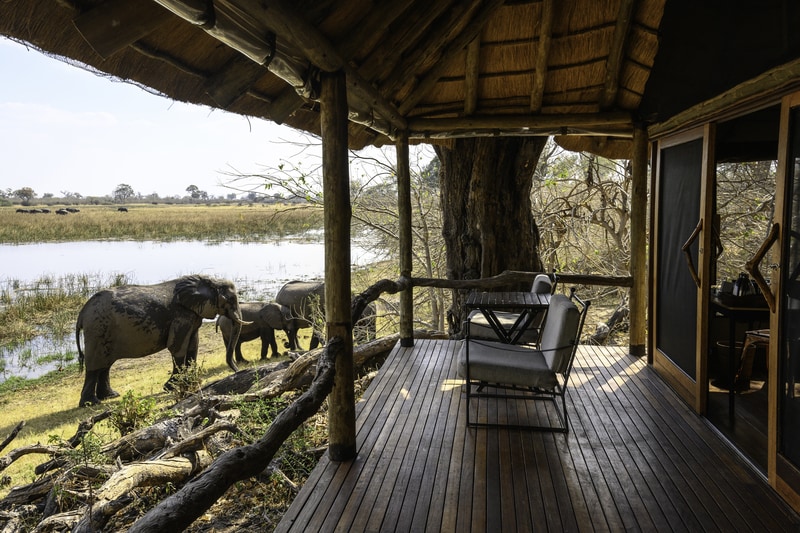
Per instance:
[[[321,236],[320,236],[321,239]],[[0,244],[0,292],[12,297],[19,287],[45,277],[89,276],[110,280],[124,275],[130,283],[152,284],[186,274],[225,278],[236,284],[241,301],[272,300],[293,279],[322,279],[325,247],[321,242],[283,239],[266,243],[200,241],[86,241]],[[353,267],[378,257],[351,249]],[[57,286],[55,284],[54,286]],[[13,349],[0,348],[0,382],[10,376],[33,378],[60,368],[75,357],[75,340],[37,337]],[[46,359],[46,360],[45,360]]]

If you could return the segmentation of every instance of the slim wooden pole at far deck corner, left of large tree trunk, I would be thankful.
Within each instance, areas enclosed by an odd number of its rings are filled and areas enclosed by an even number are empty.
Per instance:
[[[400,277],[411,277],[411,169],[408,161],[408,135],[397,139],[397,207],[400,214]],[[414,346],[414,288],[400,293],[400,346]]]

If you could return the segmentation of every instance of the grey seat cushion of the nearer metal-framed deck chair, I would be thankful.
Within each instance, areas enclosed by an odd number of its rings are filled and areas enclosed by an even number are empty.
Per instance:
[[[467,377],[466,344],[465,341],[458,361],[458,373],[463,378]],[[489,383],[543,389],[553,389],[558,384],[542,352],[501,342],[470,341],[469,370],[471,380]]]

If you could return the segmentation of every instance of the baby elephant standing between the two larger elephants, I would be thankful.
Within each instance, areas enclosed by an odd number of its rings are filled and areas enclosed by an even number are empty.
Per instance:
[[[278,344],[275,342],[275,330],[284,332],[288,328],[289,309],[276,303],[242,302],[239,304],[242,311],[242,320],[250,322],[242,326],[239,340],[236,342],[236,362],[242,363],[246,359],[242,356],[242,343],[261,338],[261,359],[268,357],[269,348],[272,355],[279,355]],[[233,331],[233,322],[224,315],[217,318],[217,329],[222,332],[222,340],[228,349]]]

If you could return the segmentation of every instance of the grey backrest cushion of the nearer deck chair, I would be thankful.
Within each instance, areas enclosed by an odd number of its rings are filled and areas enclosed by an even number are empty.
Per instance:
[[[563,294],[554,294],[550,298],[539,349],[553,372],[567,370],[572,346],[577,340],[580,315],[578,307]]]

